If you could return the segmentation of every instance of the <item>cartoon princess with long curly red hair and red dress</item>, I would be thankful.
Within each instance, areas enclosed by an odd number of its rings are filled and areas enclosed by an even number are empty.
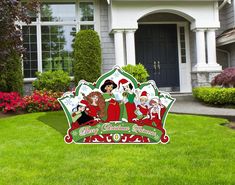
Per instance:
[[[100,92],[91,92],[84,97],[89,102],[89,116],[101,119],[105,116],[105,100]]]

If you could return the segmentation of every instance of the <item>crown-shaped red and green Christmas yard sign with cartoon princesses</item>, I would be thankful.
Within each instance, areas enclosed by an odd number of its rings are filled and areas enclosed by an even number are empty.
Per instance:
[[[169,142],[165,121],[175,99],[118,66],[94,83],[81,80],[58,101],[68,120],[66,143]]]

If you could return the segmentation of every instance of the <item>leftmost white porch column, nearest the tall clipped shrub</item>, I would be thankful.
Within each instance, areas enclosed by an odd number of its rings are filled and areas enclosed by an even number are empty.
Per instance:
[[[123,30],[114,30],[115,59],[116,65],[122,67],[125,65]]]

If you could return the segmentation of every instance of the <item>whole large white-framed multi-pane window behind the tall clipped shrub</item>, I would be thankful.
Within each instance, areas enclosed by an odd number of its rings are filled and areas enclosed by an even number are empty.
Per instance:
[[[59,69],[72,76],[74,36],[79,30],[95,29],[94,15],[93,1],[42,3],[40,13],[32,14],[32,23],[22,24],[27,49],[23,57],[24,78],[35,78],[37,71]]]

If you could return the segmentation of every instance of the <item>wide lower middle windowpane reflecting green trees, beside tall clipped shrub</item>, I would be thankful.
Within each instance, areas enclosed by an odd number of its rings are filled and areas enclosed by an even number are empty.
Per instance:
[[[42,26],[42,69],[64,70],[72,75],[74,26]]]

